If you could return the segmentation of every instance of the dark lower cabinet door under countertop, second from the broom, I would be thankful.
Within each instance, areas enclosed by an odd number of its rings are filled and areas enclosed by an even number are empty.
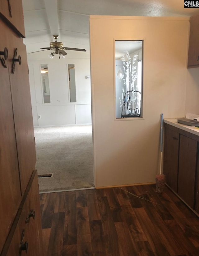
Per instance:
[[[196,174],[197,141],[180,135],[178,194],[193,208],[195,174]]]

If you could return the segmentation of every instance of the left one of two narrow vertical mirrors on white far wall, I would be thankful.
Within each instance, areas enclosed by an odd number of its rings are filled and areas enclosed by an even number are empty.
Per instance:
[[[50,103],[50,88],[47,64],[41,64],[41,78],[43,86],[44,103]]]

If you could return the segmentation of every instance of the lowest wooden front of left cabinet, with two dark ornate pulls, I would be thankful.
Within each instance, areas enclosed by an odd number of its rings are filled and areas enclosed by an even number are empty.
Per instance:
[[[11,242],[4,246],[5,251],[2,256],[43,256],[37,172],[35,171],[33,175],[30,190],[25,201],[22,202],[24,203],[23,208],[19,210],[19,212],[21,211],[20,217],[18,220],[16,219],[17,225],[13,225],[16,226],[16,229],[13,231],[14,234],[9,234],[12,238],[8,237],[7,243],[9,240]],[[20,254],[21,245],[24,250],[21,250]],[[27,254],[25,247],[27,247]]]

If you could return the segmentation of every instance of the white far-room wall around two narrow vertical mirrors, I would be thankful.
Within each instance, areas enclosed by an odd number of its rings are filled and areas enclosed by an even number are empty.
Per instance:
[[[69,101],[69,63],[75,64],[76,102]],[[50,103],[43,100],[40,64],[48,64]],[[89,58],[29,58],[28,66],[34,126],[91,123]]]

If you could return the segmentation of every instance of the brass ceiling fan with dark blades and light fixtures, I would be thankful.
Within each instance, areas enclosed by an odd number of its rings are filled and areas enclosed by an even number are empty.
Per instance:
[[[52,59],[55,54],[59,54],[59,58],[65,58],[65,55],[67,55],[67,53],[64,50],[72,50],[72,51],[81,51],[81,52],[86,52],[85,49],[79,49],[79,48],[69,48],[69,47],[63,47],[63,43],[62,42],[57,42],[58,39],[58,35],[53,35],[55,42],[51,42],[50,43],[50,47],[44,47],[44,48],[40,48],[40,49],[45,49],[45,50],[41,50],[41,51],[36,51],[36,52],[42,52],[42,51],[47,51],[47,50],[54,50],[54,52],[51,52],[51,54],[49,55],[49,57]],[[34,52],[29,52],[29,53],[34,53]]]

